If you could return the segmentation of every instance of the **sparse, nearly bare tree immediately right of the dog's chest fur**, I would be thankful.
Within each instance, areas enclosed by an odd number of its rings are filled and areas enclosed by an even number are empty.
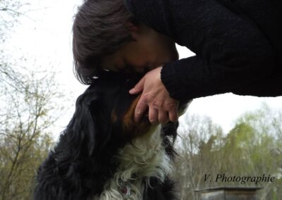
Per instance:
[[[211,118],[199,115],[185,115],[185,125],[178,129],[175,177],[181,192],[180,199],[195,199],[199,196],[195,190],[209,182],[204,182],[204,175],[214,173],[219,165],[217,154],[210,154],[220,146],[221,127],[212,123]]]

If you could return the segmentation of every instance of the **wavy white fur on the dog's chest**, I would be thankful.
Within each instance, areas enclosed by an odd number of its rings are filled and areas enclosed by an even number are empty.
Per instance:
[[[102,194],[94,199],[138,200],[142,199],[145,184],[149,185],[149,177],[157,177],[159,182],[164,182],[171,172],[171,160],[162,142],[159,127],[152,127],[147,134],[120,149],[114,178],[106,182]]]

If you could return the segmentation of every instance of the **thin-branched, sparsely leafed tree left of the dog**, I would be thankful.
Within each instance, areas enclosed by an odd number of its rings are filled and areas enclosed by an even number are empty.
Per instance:
[[[0,0],[0,46],[18,15],[25,15],[23,6]],[[4,49],[0,53],[0,199],[30,199],[37,168],[54,144],[51,130],[64,111],[63,94],[52,70],[40,70],[32,58],[13,61]]]

